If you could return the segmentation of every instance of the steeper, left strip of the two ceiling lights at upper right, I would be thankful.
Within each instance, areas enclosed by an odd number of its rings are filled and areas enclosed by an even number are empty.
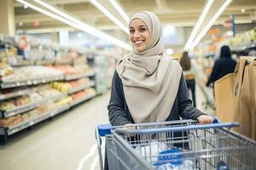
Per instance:
[[[190,34],[190,37],[189,37],[188,42],[186,43],[186,45],[185,45],[185,47],[184,47],[185,50],[188,50],[188,49],[189,49],[190,44],[191,44],[192,41],[194,40],[195,35],[196,35],[197,31],[199,30],[199,28],[200,28],[200,26],[201,26],[203,20],[205,20],[205,18],[206,18],[206,16],[207,16],[207,13],[208,13],[209,9],[211,8],[213,2],[214,2],[214,0],[208,0],[208,3],[207,3],[207,5],[206,5],[206,7],[204,8],[203,12],[201,13],[200,18],[199,18],[199,20],[197,21],[197,23],[196,23],[196,25],[195,25],[193,31],[192,31],[191,34]]]

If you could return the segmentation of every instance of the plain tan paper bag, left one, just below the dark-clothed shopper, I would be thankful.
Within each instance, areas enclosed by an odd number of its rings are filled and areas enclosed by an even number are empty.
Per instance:
[[[220,122],[233,122],[234,73],[214,82],[216,116]]]

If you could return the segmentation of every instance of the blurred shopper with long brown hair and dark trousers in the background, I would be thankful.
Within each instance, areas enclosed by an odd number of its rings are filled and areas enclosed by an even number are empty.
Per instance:
[[[189,58],[187,51],[183,52],[183,56],[179,61],[180,65],[183,68],[183,75],[187,83],[188,89],[191,91],[193,105],[196,107],[195,102],[195,75],[196,75],[196,66],[194,60]]]

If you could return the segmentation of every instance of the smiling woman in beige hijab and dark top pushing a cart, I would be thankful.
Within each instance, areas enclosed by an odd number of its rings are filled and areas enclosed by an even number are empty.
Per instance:
[[[211,123],[212,116],[192,106],[178,62],[164,54],[157,16],[137,12],[131,16],[129,29],[132,51],[119,60],[113,75],[108,105],[111,124],[127,126],[180,117]]]

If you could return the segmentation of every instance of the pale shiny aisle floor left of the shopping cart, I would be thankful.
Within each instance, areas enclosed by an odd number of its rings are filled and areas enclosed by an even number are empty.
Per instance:
[[[103,94],[72,112],[40,123],[32,131],[18,133],[8,144],[0,146],[1,169],[78,169],[84,157],[83,169],[90,169],[96,156],[96,152],[93,156],[90,153],[96,151],[94,127],[108,122],[108,99],[109,93]]]

